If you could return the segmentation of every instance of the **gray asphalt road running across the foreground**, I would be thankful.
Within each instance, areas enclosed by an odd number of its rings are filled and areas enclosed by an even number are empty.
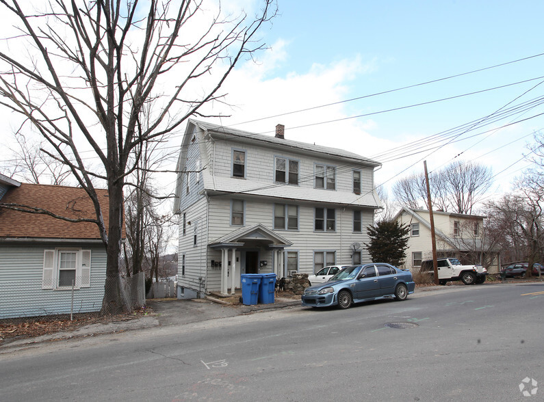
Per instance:
[[[543,283],[448,286],[42,343],[0,355],[0,400],[542,401],[543,313]]]

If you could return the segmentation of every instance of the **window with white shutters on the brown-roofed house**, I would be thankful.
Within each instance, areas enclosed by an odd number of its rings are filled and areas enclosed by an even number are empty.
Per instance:
[[[90,269],[90,250],[44,250],[42,289],[90,287]]]

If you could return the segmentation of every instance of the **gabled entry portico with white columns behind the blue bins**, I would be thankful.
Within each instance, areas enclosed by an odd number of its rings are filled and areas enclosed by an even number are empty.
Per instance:
[[[275,273],[276,276],[285,276],[283,250],[290,245],[290,241],[262,224],[240,228],[209,243],[212,250],[221,252],[220,293],[229,294],[230,287],[233,295],[235,288],[240,286],[242,273]],[[268,267],[270,258],[272,268]]]

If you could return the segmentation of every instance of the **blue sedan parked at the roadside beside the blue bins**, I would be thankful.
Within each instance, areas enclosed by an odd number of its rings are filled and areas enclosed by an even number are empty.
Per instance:
[[[354,303],[383,297],[406,300],[414,289],[410,271],[385,263],[353,265],[342,269],[327,282],[306,288],[302,306],[349,308]]]

